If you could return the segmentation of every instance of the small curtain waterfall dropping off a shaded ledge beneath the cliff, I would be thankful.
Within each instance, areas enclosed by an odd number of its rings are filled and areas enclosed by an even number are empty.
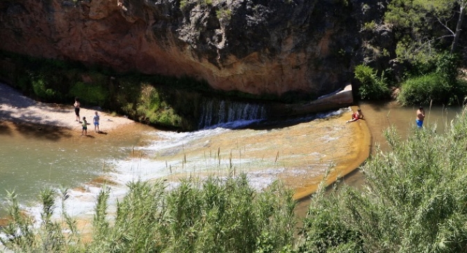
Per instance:
[[[206,98],[202,103],[198,129],[234,121],[266,119],[265,105]]]

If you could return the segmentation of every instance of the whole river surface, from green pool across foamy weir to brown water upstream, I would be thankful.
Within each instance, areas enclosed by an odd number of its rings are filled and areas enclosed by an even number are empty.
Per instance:
[[[362,103],[360,107],[372,143],[384,144],[382,130],[390,124],[404,134],[414,123],[413,107],[393,103]],[[437,122],[441,126],[460,108],[425,111],[425,125]],[[35,203],[40,189],[61,185],[72,189],[67,211],[91,216],[99,182],[111,182],[108,186],[115,202],[131,180],[165,178],[177,184],[180,177],[239,173],[247,173],[257,189],[279,179],[306,192],[330,167],[357,160],[355,154],[361,147],[354,140],[361,122],[346,124],[348,118],[350,109],[344,108],[290,121],[245,119],[195,132],[168,132],[135,123],[95,138],[0,123],[0,198],[6,197],[6,190],[15,190],[22,205],[38,214]],[[350,173],[345,183],[363,184],[361,173]],[[297,209],[300,216],[306,212],[306,203]],[[1,202],[0,215],[5,212],[5,202]]]

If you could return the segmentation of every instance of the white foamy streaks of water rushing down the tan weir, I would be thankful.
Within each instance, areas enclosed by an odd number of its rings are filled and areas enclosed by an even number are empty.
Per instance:
[[[304,117],[301,119],[295,119],[294,121],[311,121],[313,119],[322,119],[329,116],[335,116],[338,114],[342,114],[344,112],[348,112],[350,108],[343,108],[334,112],[327,112],[323,114],[315,114],[313,116]],[[162,131],[154,131],[154,132],[145,132],[145,135],[148,138],[154,137],[156,141],[149,141],[147,146],[143,147],[136,147],[135,149],[144,150],[145,152],[161,152],[161,150],[174,150],[180,149],[185,146],[189,146],[190,143],[199,142],[201,139],[205,139],[208,137],[215,137],[215,135],[223,134],[228,131],[233,131],[235,128],[241,128],[245,125],[250,125],[252,123],[259,122],[259,120],[252,120],[252,121],[233,121],[229,123],[222,123],[217,126],[211,126],[210,128],[206,128],[204,130],[199,130],[195,132],[162,132]],[[261,131],[259,131],[261,132]],[[331,137],[325,137],[328,141],[333,140]],[[201,143],[197,143],[197,145],[204,145],[206,141],[202,141]],[[194,144],[193,144],[194,145]],[[316,157],[323,157],[322,154],[319,152],[313,152],[309,155],[313,155]],[[110,189],[110,198],[108,200],[108,211],[112,213],[115,211],[115,204],[117,200],[121,199],[127,192],[126,184],[136,180],[156,180],[158,178],[163,177],[170,177],[172,174],[179,174],[183,175],[191,175],[191,173],[199,173],[199,172],[209,172],[215,171],[215,166],[219,166],[220,168],[228,168],[233,164],[233,167],[236,168],[238,171],[242,172],[242,167],[247,167],[246,164],[258,164],[259,162],[253,159],[224,159],[221,161],[220,165],[215,164],[215,162],[206,162],[206,159],[202,157],[190,157],[187,163],[183,167],[181,161],[170,161],[170,160],[162,160],[163,158],[159,159],[124,159],[124,160],[113,160],[107,161],[106,164],[111,164],[111,169],[104,173],[104,177],[114,182],[115,184],[108,185],[108,189]],[[208,163],[208,165],[206,165]],[[247,179],[249,184],[254,187],[254,189],[261,191],[268,185],[272,184],[278,179],[278,175],[280,173],[284,173],[284,168],[265,168],[270,166],[271,164],[267,164],[263,162],[261,166],[263,169],[253,168],[253,169],[245,169],[247,173]],[[323,164],[316,164],[316,171],[325,171],[327,166],[323,166]],[[170,167],[172,167],[172,172],[170,171]],[[313,166],[314,167],[314,166]],[[188,168],[188,169],[187,169]],[[227,169],[224,169],[223,172],[226,172]],[[306,169],[297,170],[294,173],[302,174],[302,173],[309,173]],[[167,182],[169,187],[167,189],[173,189],[174,187],[178,186],[178,182]],[[84,189],[84,191],[83,191]],[[97,202],[97,196],[101,191],[101,186],[95,186],[93,184],[85,184],[83,185],[83,189],[72,189],[69,190],[69,198],[65,201],[65,209],[70,216],[73,217],[92,217],[93,213],[95,212],[95,206]],[[56,211],[55,217],[59,218],[62,209],[61,209],[61,202],[60,200],[56,201]],[[41,218],[40,213],[42,207],[38,204],[37,206],[33,207],[24,207],[22,206],[28,213],[31,213],[31,216],[35,218],[40,224]]]

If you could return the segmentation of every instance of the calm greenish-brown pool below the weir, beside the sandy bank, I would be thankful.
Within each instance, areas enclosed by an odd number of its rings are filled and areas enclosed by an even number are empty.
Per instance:
[[[45,186],[76,188],[103,173],[105,162],[126,159],[142,134],[151,130],[134,124],[131,134],[98,134],[79,138],[78,132],[0,122],[0,197],[15,191],[20,202],[37,201]],[[105,167],[104,167],[105,168]],[[5,204],[0,204],[0,216]]]

